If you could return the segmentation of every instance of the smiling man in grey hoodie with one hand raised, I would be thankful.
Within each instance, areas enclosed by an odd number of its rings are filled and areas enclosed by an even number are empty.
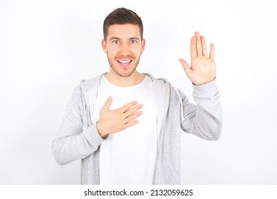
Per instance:
[[[191,66],[179,60],[192,80],[195,105],[167,80],[137,71],[145,39],[135,12],[116,9],[103,31],[110,71],[75,88],[53,140],[56,161],[80,159],[82,184],[181,183],[181,129],[207,140],[221,134],[214,45],[208,55],[197,32]]]

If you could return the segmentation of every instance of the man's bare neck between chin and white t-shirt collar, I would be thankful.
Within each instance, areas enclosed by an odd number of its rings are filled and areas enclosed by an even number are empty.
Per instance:
[[[115,72],[110,71],[105,74],[105,77],[109,82],[111,82],[115,86],[131,87],[138,85],[140,82],[142,82],[142,80],[144,80],[145,78],[145,75],[135,70],[129,77],[120,77]]]

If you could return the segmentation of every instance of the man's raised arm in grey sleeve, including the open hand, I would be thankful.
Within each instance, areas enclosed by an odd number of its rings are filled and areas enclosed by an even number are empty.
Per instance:
[[[197,106],[190,104],[187,97],[182,95],[185,115],[181,127],[203,139],[216,140],[221,135],[222,110],[219,91],[215,85],[214,44],[211,44],[208,56],[204,36],[196,32],[191,40],[190,52],[191,66],[185,60],[179,61],[194,84],[193,97]]]

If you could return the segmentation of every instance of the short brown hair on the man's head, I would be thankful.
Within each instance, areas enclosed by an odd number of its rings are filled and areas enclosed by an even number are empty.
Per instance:
[[[142,19],[140,18],[140,16],[137,16],[137,14],[134,11],[131,11],[125,8],[120,8],[120,9],[115,9],[105,18],[105,21],[103,23],[103,33],[104,33],[105,41],[107,40],[108,28],[110,26],[115,24],[126,24],[126,23],[139,26],[140,37],[143,38],[143,25],[142,25]]]

